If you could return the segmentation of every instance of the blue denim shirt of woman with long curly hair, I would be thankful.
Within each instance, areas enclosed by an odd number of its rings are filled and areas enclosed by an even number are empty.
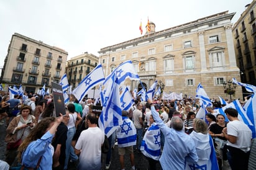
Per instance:
[[[42,138],[32,141],[22,155],[22,164],[27,168],[35,168],[42,156],[39,169],[52,169],[52,151],[54,149],[50,143],[53,136],[50,132],[47,132]]]

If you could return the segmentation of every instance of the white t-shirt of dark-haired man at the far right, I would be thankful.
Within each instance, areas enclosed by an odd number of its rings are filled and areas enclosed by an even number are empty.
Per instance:
[[[242,151],[250,150],[250,140],[252,139],[252,131],[244,122],[234,120],[227,123],[227,135],[237,137],[237,141],[233,144],[227,140],[227,145],[239,148]]]

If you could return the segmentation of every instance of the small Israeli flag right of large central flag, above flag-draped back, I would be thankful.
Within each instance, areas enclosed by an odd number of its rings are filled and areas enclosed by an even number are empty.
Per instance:
[[[129,111],[130,107],[134,104],[134,99],[132,98],[132,94],[130,94],[129,89],[126,89],[121,94],[121,108],[122,110]]]

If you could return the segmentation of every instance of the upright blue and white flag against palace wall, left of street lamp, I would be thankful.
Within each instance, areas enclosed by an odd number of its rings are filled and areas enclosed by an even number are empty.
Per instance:
[[[201,83],[198,84],[198,87],[196,89],[196,99],[200,99],[201,105],[200,109],[198,110],[198,113],[196,114],[196,118],[203,119],[205,121],[205,115],[207,114],[206,107],[212,106],[213,104],[209,99],[208,95],[206,94],[206,92],[204,91],[204,88],[201,85]]]

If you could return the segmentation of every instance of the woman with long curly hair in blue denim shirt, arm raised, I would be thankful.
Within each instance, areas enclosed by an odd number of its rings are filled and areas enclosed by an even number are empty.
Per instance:
[[[57,119],[47,117],[30,132],[18,149],[18,159],[22,166],[36,168],[39,164],[39,169],[52,169],[54,149],[51,143],[62,119],[62,114]]]

